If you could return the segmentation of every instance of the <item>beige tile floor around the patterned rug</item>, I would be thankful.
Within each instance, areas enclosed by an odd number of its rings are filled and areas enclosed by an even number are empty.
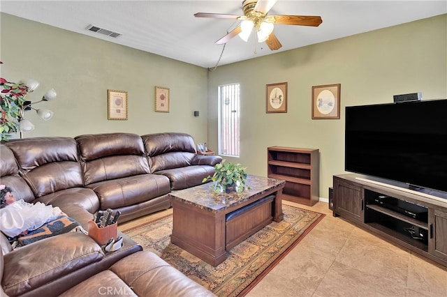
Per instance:
[[[326,216],[248,297],[447,296],[447,268],[334,218],[325,202],[312,207],[284,204]],[[170,212],[172,209],[126,222],[119,229]]]

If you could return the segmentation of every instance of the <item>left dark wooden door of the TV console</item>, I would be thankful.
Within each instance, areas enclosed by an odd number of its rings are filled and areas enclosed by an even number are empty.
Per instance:
[[[334,213],[364,222],[363,190],[359,186],[334,176]]]

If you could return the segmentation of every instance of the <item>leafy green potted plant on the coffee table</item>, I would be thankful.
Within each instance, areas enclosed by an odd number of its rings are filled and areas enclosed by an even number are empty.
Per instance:
[[[239,163],[227,163],[225,160],[214,165],[214,174],[203,178],[203,183],[213,181],[215,192],[242,192],[249,188],[247,172]]]

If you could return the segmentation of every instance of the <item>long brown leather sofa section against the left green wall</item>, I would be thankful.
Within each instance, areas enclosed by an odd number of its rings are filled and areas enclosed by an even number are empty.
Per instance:
[[[21,199],[64,211],[79,204],[89,218],[112,208],[121,212],[119,222],[170,208],[171,190],[200,185],[222,160],[197,155],[191,135],[173,132],[36,137],[3,144],[2,162],[17,162],[15,174],[25,181],[8,184],[16,194],[23,192]]]

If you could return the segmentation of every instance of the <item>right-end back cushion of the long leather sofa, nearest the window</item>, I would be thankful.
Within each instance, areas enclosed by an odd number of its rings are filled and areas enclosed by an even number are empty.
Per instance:
[[[141,138],[151,172],[189,166],[196,155],[194,139],[186,133],[156,133]]]

